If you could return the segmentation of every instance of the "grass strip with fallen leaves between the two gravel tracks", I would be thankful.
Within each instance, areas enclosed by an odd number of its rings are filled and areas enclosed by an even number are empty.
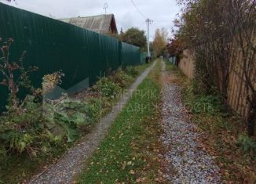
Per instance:
[[[124,110],[113,122],[108,136],[85,164],[78,183],[158,183],[163,151],[159,135],[158,63]]]

